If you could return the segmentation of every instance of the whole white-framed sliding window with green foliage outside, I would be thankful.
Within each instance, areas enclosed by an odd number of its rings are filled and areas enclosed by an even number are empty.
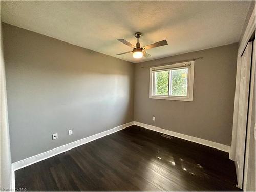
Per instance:
[[[193,101],[194,61],[150,68],[150,98]]]

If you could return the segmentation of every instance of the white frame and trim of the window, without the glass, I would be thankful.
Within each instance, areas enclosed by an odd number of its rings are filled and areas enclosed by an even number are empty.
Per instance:
[[[195,61],[181,62],[169,64],[164,66],[156,66],[150,68],[150,99],[166,99],[176,101],[193,101],[193,86],[194,86],[194,65]],[[155,77],[154,72],[167,71],[174,69],[188,68],[187,73],[187,96],[170,96],[170,89],[168,95],[154,95],[155,92]],[[169,75],[170,78],[170,75]],[[169,85],[168,85],[169,86]]]

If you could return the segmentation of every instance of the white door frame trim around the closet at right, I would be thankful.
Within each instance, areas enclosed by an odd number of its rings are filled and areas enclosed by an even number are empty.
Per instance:
[[[236,139],[237,139],[237,123],[238,123],[238,101],[239,101],[239,91],[240,91],[240,76],[241,76],[241,56],[255,32],[255,7],[252,11],[251,17],[249,19],[248,25],[246,26],[245,33],[240,41],[237,56],[237,75],[236,75],[236,91],[234,96],[234,113],[233,113],[233,130],[232,130],[232,143],[231,150],[229,153],[229,158],[236,161]],[[247,181],[244,181],[246,183]],[[243,188],[243,182],[238,183],[239,188]]]

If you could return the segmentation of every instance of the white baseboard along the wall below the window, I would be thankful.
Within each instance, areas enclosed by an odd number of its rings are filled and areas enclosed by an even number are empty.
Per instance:
[[[224,145],[224,144],[220,144],[220,143],[208,141],[208,140],[205,140],[205,139],[200,139],[200,138],[197,138],[197,137],[193,137],[193,136],[189,136],[189,135],[185,135],[185,134],[165,130],[165,129],[162,129],[162,128],[159,128],[159,127],[156,127],[156,126],[140,123],[140,122],[137,122],[137,121],[134,121],[134,124],[137,125],[137,126],[141,126],[143,128],[146,128],[148,130],[153,130],[153,131],[156,131],[156,132],[164,133],[164,134],[167,134],[167,135],[171,135],[171,136],[174,136],[174,137],[185,139],[187,141],[192,141],[192,142],[195,142],[195,143],[206,145],[206,146],[209,146],[209,147],[212,147],[212,148],[217,148],[218,150],[221,150],[221,151],[224,151],[224,152],[228,152],[228,153],[230,152],[230,146],[227,146],[227,145]]]

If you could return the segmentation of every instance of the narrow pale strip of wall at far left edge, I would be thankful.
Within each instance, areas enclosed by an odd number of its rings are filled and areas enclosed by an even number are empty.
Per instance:
[[[8,128],[5,65],[0,24],[0,188],[11,187],[11,151]],[[1,190],[1,189],[0,189]],[[1,190],[1,191],[2,191]]]

